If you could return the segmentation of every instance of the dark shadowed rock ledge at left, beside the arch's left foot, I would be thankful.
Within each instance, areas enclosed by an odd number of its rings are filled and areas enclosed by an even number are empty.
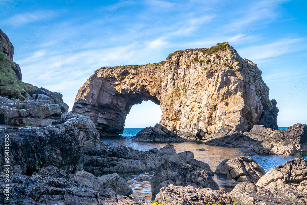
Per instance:
[[[0,139],[10,139],[10,169],[32,174],[49,165],[74,172],[83,167],[83,148],[99,142],[99,132],[90,119],[71,112],[62,113],[57,123],[46,127],[3,127]],[[0,164],[4,166],[4,144],[0,144]]]

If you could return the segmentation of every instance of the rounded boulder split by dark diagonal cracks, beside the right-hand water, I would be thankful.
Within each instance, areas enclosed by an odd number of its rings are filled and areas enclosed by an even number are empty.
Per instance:
[[[257,182],[266,173],[255,160],[245,156],[228,160],[225,168],[227,179],[238,182]]]

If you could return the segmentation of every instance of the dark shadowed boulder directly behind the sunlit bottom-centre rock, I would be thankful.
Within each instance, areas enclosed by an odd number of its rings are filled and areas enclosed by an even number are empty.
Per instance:
[[[170,184],[220,190],[208,171],[189,164],[165,162],[157,168],[150,180],[152,199],[160,192],[162,187],[167,187]]]

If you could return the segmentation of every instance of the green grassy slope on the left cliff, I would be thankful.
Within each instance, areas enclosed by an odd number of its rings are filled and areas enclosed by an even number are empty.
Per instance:
[[[22,93],[34,91],[35,87],[20,81],[15,70],[15,63],[8,60],[5,53],[0,52],[0,78],[4,82],[4,86],[0,86],[0,95],[23,100],[25,97]]]

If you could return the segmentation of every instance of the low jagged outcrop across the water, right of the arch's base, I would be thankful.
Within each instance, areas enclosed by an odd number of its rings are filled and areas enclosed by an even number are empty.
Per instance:
[[[259,154],[293,155],[307,151],[307,125],[297,123],[283,130],[254,125],[250,132],[221,128],[206,141],[207,145],[245,148]]]

